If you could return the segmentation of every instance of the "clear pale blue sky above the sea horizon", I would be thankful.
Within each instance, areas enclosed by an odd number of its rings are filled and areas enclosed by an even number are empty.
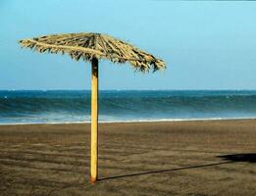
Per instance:
[[[90,65],[21,49],[60,32],[111,34],[164,59],[134,73],[100,62],[100,89],[256,89],[256,2],[1,0],[0,89],[90,89]]]

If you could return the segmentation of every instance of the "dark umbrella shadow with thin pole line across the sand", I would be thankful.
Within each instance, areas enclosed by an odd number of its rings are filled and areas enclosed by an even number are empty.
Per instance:
[[[138,176],[138,175],[153,174],[153,173],[160,173],[160,172],[175,172],[175,171],[184,171],[184,170],[192,170],[192,169],[199,169],[199,168],[207,168],[207,167],[220,166],[220,165],[225,165],[225,164],[234,164],[234,163],[237,163],[237,162],[256,163],[256,154],[252,154],[252,153],[251,154],[222,155],[222,156],[218,156],[218,158],[221,158],[226,162],[205,164],[205,165],[197,165],[197,166],[190,166],[190,167],[181,167],[181,168],[170,169],[170,170],[160,170],[160,171],[151,171],[151,172],[136,172],[136,173],[123,174],[123,175],[115,175],[115,176],[110,176],[110,177],[99,178],[98,181],[124,178],[124,177],[131,177],[131,176]]]

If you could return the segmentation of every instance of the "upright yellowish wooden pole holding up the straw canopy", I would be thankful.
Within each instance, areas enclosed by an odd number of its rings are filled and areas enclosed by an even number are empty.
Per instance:
[[[91,62],[91,148],[90,180],[95,183],[98,177],[98,60]]]

